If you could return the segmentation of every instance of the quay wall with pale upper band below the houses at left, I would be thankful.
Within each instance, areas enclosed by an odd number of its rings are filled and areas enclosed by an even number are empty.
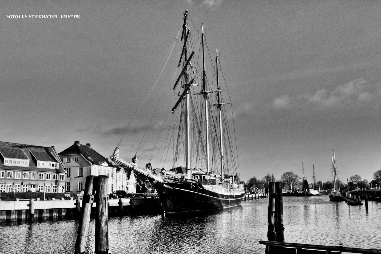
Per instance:
[[[0,223],[31,222],[34,220],[78,219],[83,200],[2,200],[0,201]],[[30,209],[32,204],[34,209]],[[123,198],[108,201],[110,215],[128,213],[160,213],[162,206],[158,198]],[[91,215],[95,214],[93,203]],[[32,213],[33,212],[33,213]]]

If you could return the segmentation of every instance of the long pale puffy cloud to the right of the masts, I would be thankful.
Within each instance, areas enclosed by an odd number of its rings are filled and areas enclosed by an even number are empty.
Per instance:
[[[309,105],[323,108],[348,107],[359,105],[361,102],[375,102],[375,99],[379,99],[379,97],[380,93],[374,93],[366,80],[357,78],[331,90],[322,88],[315,93],[300,94],[296,97],[285,94],[275,98],[272,101],[272,106],[275,109]]]

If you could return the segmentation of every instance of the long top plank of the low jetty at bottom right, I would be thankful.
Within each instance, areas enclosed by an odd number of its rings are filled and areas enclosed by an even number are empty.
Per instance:
[[[267,246],[280,246],[280,247],[291,247],[291,248],[301,248],[301,249],[316,249],[325,251],[338,251],[338,252],[351,252],[351,253],[381,253],[381,249],[365,249],[365,248],[352,248],[344,246],[328,246],[328,245],[316,245],[316,244],[301,244],[301,243],[283,243],[275,241],[259,241],[260,244],[266,244]]]

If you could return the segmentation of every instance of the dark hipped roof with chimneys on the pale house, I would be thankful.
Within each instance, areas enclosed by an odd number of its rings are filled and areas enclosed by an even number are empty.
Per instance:
[[[109,167],[114,167],[105,157],[92,149],[90,144],[81,145],[79,141],[75,141],[73,145],[58,153],[59,156],[75,154],[82,154],[93,165],[103,166],[101,164],[106,162]]]

